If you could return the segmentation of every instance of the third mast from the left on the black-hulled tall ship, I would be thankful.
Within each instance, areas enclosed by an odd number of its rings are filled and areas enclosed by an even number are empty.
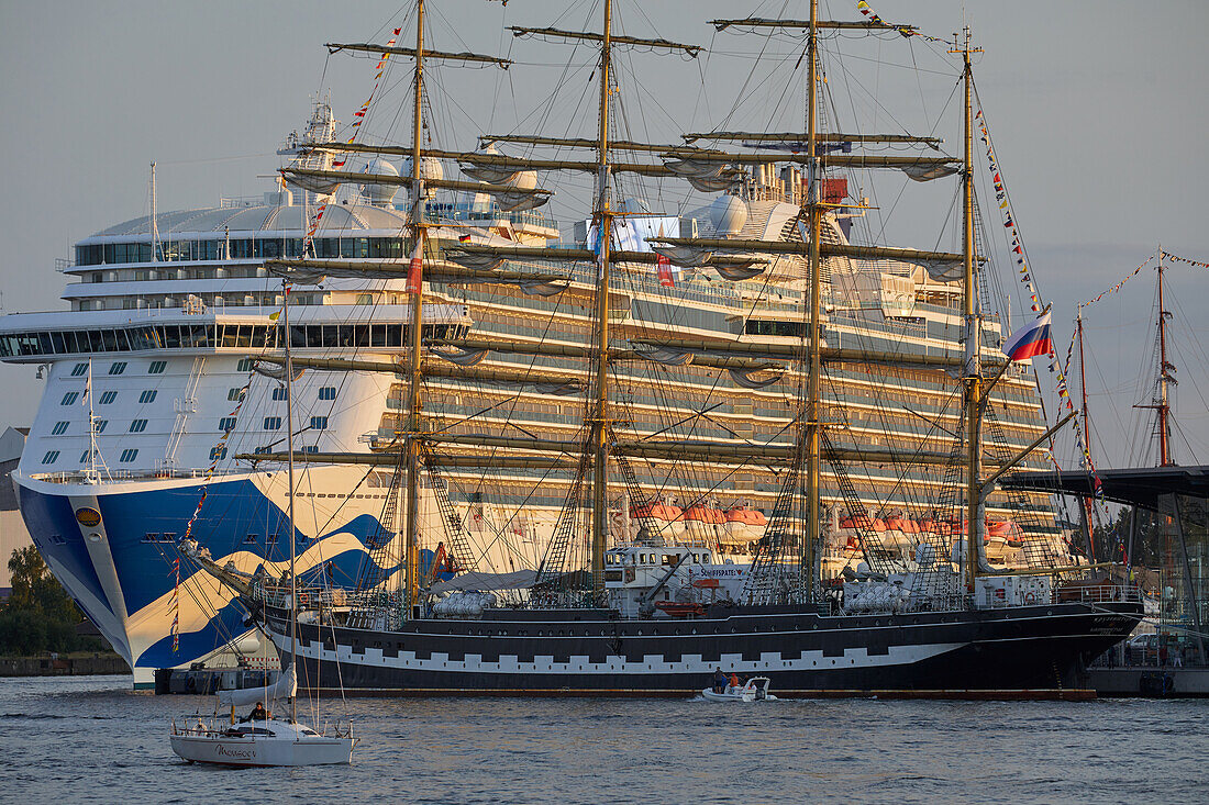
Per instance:
[[[818,474],[820,474],[820,454],[818,454],[818,384],[820,376],[822,375],[822,347],[820,344],[820,335],[822,332],[821,318],[821,303],[820,296],[822,295],[822,280],[820,277],[818,268],[818,232],[820,232],[820,209],[818,204],[822,197],[822,169],[820,167],[818,157],[816,154],[816,138],[817,132],[817,112],[818,112],[818,100],[817,100],[817,70],[818,70],[818,58],[817,58],[817,46],[818,46],[818,0],[810,0],[810,42],[809,42],[809,74],[808,74],[808,91],[806,91],[806,156],[810,160],[810,186],[809,186],[809,199],[806,203],[806,214],[810,220],[810,329],[808,337],[810,338],[810,375],[808,380],[806,389],[806,407],[805,407],[805,439],[806,439],[806,529],[805,529],[805,550],[803,551],[803,564],[805,566],[803,571],[805,572],[806,581],[806,601],[814,598],[815,590],[815,549],[818,545]]]

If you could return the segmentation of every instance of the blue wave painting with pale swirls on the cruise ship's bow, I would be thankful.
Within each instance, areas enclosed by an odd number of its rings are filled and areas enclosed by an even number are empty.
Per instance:
[[[45,490],[47,485],[39,485]],[[106,486],[65,488],[60,494],[22,483],[22,516],[37,550],[76,603],[135,670],[195,662],[250,630],[235,593],[181,561],[177,540],[197,506],[199,486],[105,493]],[[76,499],[69,499],[68,494]],[[97,528],[81,528],[81,496],[94,496]],[[89,506],[93,508],[93,506]],[[351,514],[351,512],[349,512]],[[369,514],[332,522],[317,538],[299,533],[299,572],[335,587],[352,589],[359,574],[377,569],[365,549],[378,520]],[[221,564],[251,572],[265,564],[279,574],[289,561],[287,515],[250,479],[213,481],[192,537]],[[398,568],[387,568],[394,573]],[[381,578],[381,577],[380,577]],[[180,612],[177,648],[172,620]]]

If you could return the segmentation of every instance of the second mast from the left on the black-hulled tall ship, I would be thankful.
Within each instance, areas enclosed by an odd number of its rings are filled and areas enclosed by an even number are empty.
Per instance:
[[[600,257],[596,278],[596,400],[591,421],[592,450],[592,591],[604,591],[604,540],[608,523],[608,280],[609,248],[613,239],[613,214],[609,209],[608,166],[608,93],[613,37],[613,0],[604,0],[604,34],[601,40],[601,108],[597,131],[596,167],[598,196],[596,199],[597,248]]]

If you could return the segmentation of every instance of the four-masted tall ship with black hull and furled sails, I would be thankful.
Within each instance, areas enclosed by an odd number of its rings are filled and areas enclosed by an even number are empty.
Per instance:
[[[1115,584],[1104,568],[1051,550],[1045,517],[1028,500],[1000,505],[1039,526],[1025,529],[1014,517],[999,521],[1019,529],[1001,528],[1000,535],[1005,545],[1014,542],[1025,561],[1006,567],[1002,550],[1001,567],[990,561],[996,521],[988,510],[997,479],[1026,462],[1071,416],[1029,433],[1028,417],[1005,425],[999,413],[1023,401],[1013,399],[1013,381],[1016,390],[1029,386],[1013,364],[1052,347],[1048,312],[1035,306],[1036,320],[1013,334],[1001,352],[1002,334],[988,322],[990,306],[979,294],[987,282],[987,245],[976,236],[971,53],[977,51],[968,29],[964,39],[947,42],[961,57],[960,160],[855,154],[854,146],[877,143],[939,144],[820,127],[820,30],[919,33],[885,23],[864,2],[864,21],[820,21],[817,0],[810,2],[809,19],[712,21],[719,31],[797,33],[809,76],[804,132],[718,129],[686,134],[684,146],[617,141],[611,127],[620,88],[614,48],[688,57],[701,48],[614,35],[613,4],[604,0],[600,31],[511,28],[516,36],[598,46],[595,138],[484,138],[579,147],[589,156],[453,155],[423,144],[426,53],[456,62],[491,57],[426,51],[424,6],[423,0],[416,4],[413,47],[329,46],[415,60],[410,146],[349,141],[313,149],[342,157],[410,154],[403,175],[372,179],[410,189],[409,260],[352,263],[303,255],[271,265],[293,293],[332,276],[406,277],[406,360],[381,365],[295,358],[293,340],[280,354],[262,358],[280,367],[287,387],[301,369],[406,378],[405,416],[369,458],[308,456],[295,450],[293,438],[284,452],[260,453],[262,462],[284,462],[290,475],[300,461],[393,467],[392,488],[405,502],[401,527],[375,540],[375,569],[341,596],[326,585],[300,585],[296,577],[241,573],[191,539],[180,544],[186,560],[239,591],[303,684],[376,693],[682,695],[725,666],[799,694],[1060,690],[1077,683],[1086,661],[1132,631],[1141,616],[1136,590]],[[696,145],[700,140],[737,141],[750,151],[704,147]],[[648,158],[626,162],[618,151]],[[481,184],[465,187],[444,179],[434,163],[424,167],[426,158],[450,156]],[[777,173],[770,164],[786,168]],[[748,166],[759,167],[754,183]],[[798,166],[804,170],[796,172]],[[841,221],[864,204],[845,202],[846,189],[837,187],[829,173],[851,166],[902,169],[918,180],[958,175],[962,250],[855,242]],[[592,175],[584,248],[455,238],[434,202],[441,190],[474,190],[509,205],[540,207],[550,191],[533,172]],[[686,231],[683,220],[676,227],[650,220],[641,202],[619,192],[626,174],[722,191],[711,204],[711,226]],[[291,168],[283,175],[325,192],[365,181],[334,169]],[[995,184],[1001,184],[999,175]],[[681,268],[679,279],[673,266]],[[724,290],[686,293],[701,273],[716,274]],[[526,284],[536,290],[540,283],[548,288],[539,296],[561,297],[534,311],[539,337],[424,338],[424,306],[447,293],[441,284],[486,286],[503,306],[514,294],[499,289],[511,283],[522,293]],[[930,286],[936,288],[932,295]],[[862,307],[870,291],[878,307]],[[575,323],[578,330],[560,326],[560,309],[575,305],[579,294],[584,323]],[[735,301],[728,305],[730,299]],[[912,313],[903,315],[896,305],[912,307]],[[902,318],[920,320],[922,331],[910,337],[897,320]],[[931,343],[933,320],[937,335],[948,323],[955,337]],[[493,415],[498,406],[491,405],[441,417],[441,401],[423,395],[433,377],[449,376],[433,357],[480,367],[488,355],[508,363],[511,372],[520,369],[527,382],[582,388],[578,416],[568,417],[561,438],[556,429],[532,430],[519,406],[503,416]],[[718,378],[718,370],[729,373],[735,390]],[[502,377],[498,370],[486,371]],[[914,398],[884,404],[913,386],[925,396],[929,383],[949,406],[916,411]],[[869,395],[862,400],[857,389],[866,384]],[[864,400],[879,419],[868,429],[858,424]],[[725,406],[734,415],[746,405],[752,406],[751,424],[722,419],[718,411]],[[909,416],[899,416],[902,411]],[[909,423],[918,419],[930,427],[910,433]],[[1028,435],[1016,435],[1022,433]],[[444,494],[457,486],[456,470],[470,465],[480,467],[484,477],[497,473],[491,485],[479,487],[484,498],[502,505],[517,496],[549,498],[556,509],[540,560],[531,568],[478,568],[485,544],[470,539]],[[918,469],[925,467],[939,471],[930,476]],[[515,474],[532,468],[540,473]],[[499,474],[504,471],[509,475]],[[740,473],[753,488],[744,488],[744,503],[728,512],[752,510],[754,502],[768,515],[759,525],[754,517],[744,521],[751,532],[730,533],[728,517],[711,510],[722,514],[719,493],[737,497]],[[863,492],[854,476],[864,482]],[[433,539],[418,504],[426,487],[441,505],[451,556],[474,569],[444,580],[424,572],[418,550],[426,538]],[[750,562],[728,563],[728,548],[750,551]],[[860,550],[862,561],[855,567],[851,558],[835,562],[845,549]],[[394,560],[400,572],[383,574],[381,568]]]

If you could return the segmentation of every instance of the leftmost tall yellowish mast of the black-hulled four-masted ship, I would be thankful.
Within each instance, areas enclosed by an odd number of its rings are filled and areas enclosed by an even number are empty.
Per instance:
[[[421,207],[424,198],[423,172],[421,170],[420,137],[423,114],[424,81],[424,0],[416,2],[416,109],[411,129],[411,221],[417,244],[423,248],[424,225]],[[422,259],[422,254],[421,254]],[[407,508],[405,525],[405,596],[404,618],[411,618],[420,593],[420,351],[423,317],[423,278],[411,289],[410,354],[407,364]]]

